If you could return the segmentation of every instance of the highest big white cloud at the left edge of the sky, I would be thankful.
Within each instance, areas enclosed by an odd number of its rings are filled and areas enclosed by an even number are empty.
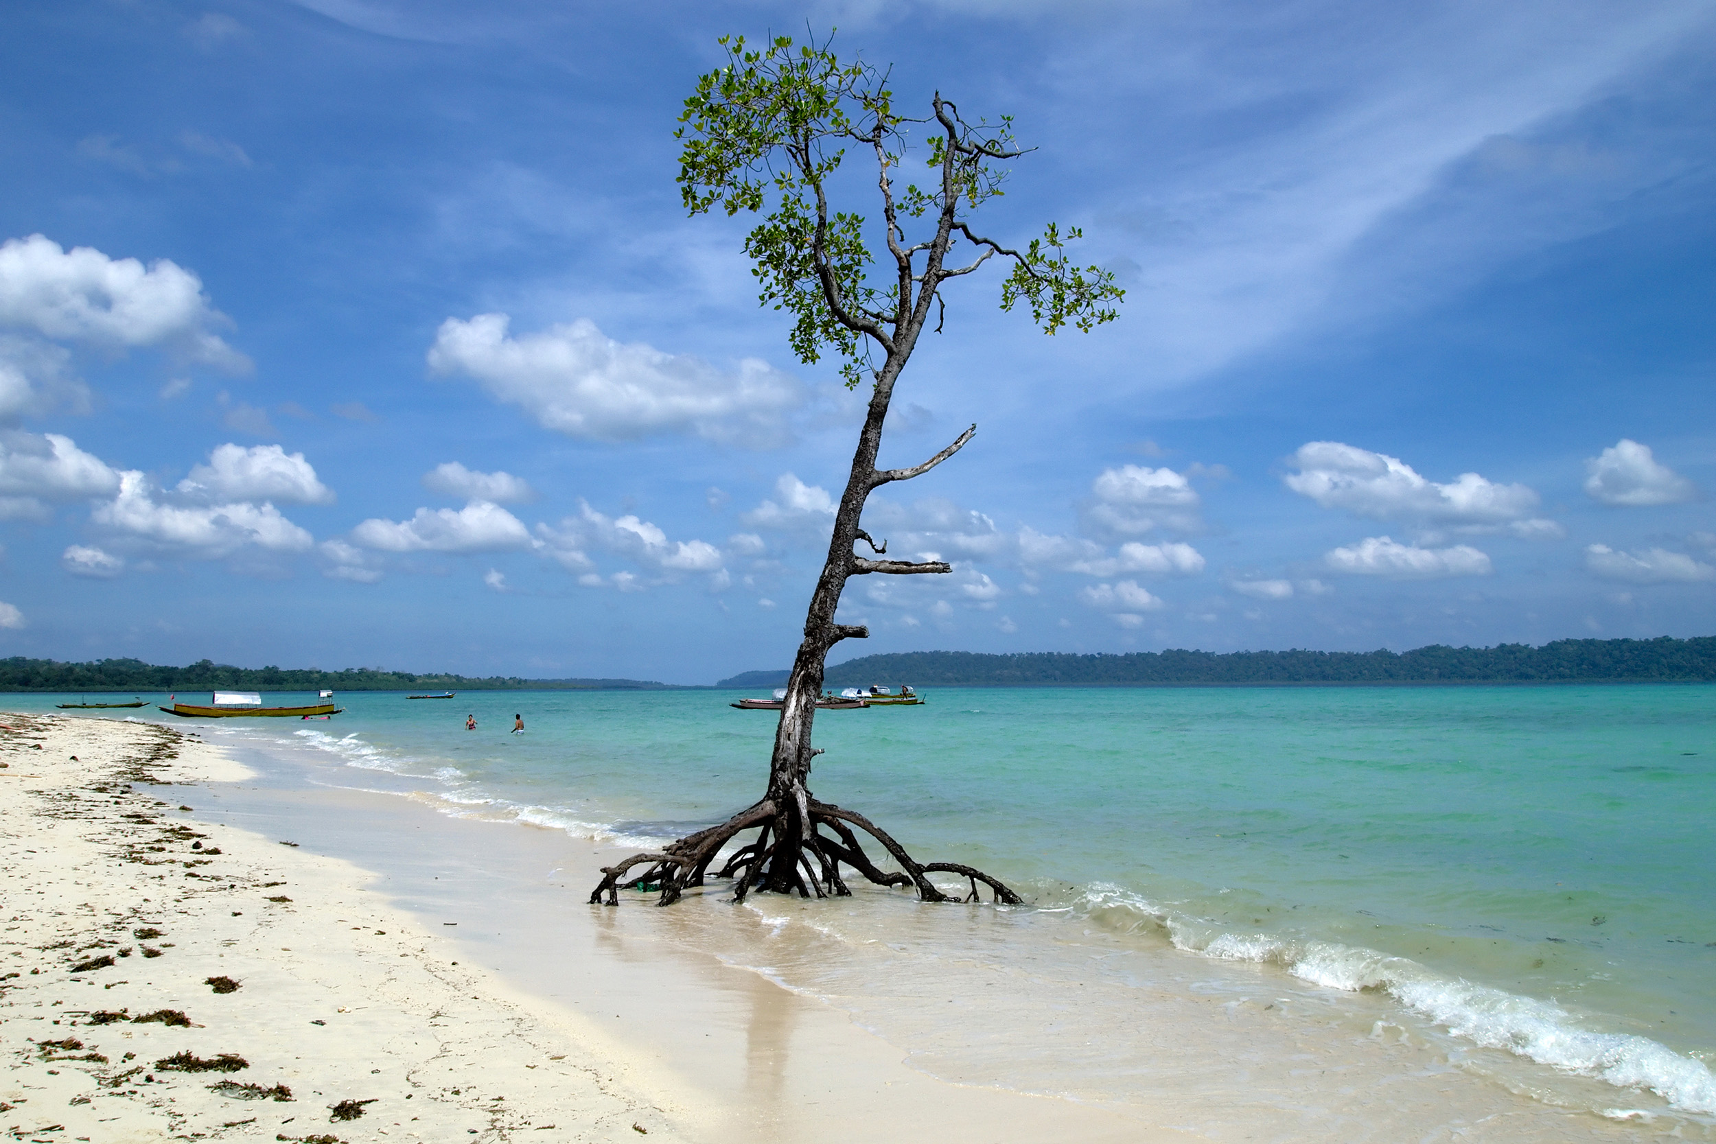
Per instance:
[[[166,259],[144,268],[91,247],[65,250],[43,235],[0,245],[0,326],[113,348],[158,345],[244,372],[249,358],[211,331],[225,324],[202,281]]]

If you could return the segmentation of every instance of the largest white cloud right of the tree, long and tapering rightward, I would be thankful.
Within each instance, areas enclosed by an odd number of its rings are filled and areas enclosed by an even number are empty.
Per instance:
[[[1465,532],[1507,528],[1526,539],[1565,535],[1555,521],[1531,516],[1539,497],[1526,485],[1502,485],[1477,473],[1438,484],[1397,456],[1338,441],[1311,441],[1294,453],[1292,463],[1299,472],[1284,477],[1289,489],[1354,516],[1416,520]]]

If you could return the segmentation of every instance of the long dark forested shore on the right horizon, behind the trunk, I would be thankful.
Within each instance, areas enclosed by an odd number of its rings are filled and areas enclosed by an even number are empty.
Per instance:
[[[1151,686],[1292,683],[1599,683],[1716,679],[1716,636],[1692,640],[1556,640],[1543,647],[1500,643],[1453,648],[1433,643],[1412,652],[904,652],[865,655],[827,671],[844,686]],[[724,688],[769,688],[784,671],[752,671],[722,679]]]

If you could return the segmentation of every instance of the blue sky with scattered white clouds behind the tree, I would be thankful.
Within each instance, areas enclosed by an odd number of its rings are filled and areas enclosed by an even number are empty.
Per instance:
[[[716,38],[1012,115],[872,499],[867,652],[1716,629],[1716,5],[9,5],[0,653],[709,683],[789,662],[858,401],[686,218]],[[853,209],[870,211],[867,201]],[[873,211],[872,211],[873,213]]]

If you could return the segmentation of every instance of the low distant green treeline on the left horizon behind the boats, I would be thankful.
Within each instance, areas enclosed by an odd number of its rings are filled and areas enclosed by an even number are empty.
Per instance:
[[[518,676],[417,676],[381,667],[232,667],[197,660],[190,667],[158,667],[137,659],[98,659],[62,664],[51,659],[0,659],[0,691],[577,691],[577,689],[669,689],[666,683],[642,679],[520,679]]]

